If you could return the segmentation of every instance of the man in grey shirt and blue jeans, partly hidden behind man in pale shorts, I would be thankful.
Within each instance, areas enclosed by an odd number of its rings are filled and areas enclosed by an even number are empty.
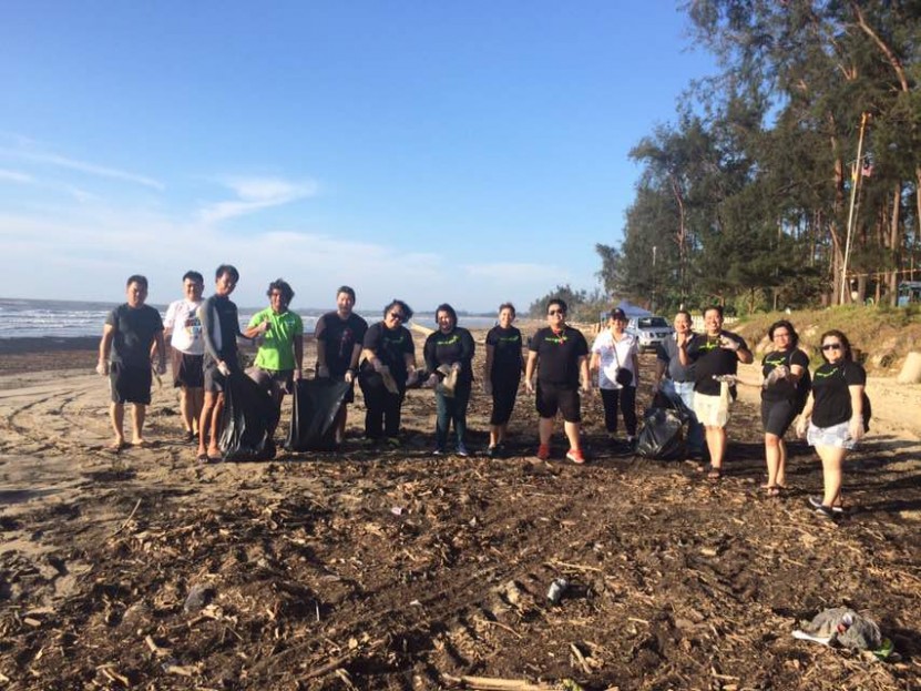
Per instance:
[[[690,419],[687,426],[687,453],[700,457],[704,453],[704,427],[694,414],[694,366],[682,365],[678,350],[688,347],[698,335],[692,327],[690,313],[679,311],[674,321],[675,333],[656,347],[656,373],[653,395],[662,392],[671,400],[680,400]]]

